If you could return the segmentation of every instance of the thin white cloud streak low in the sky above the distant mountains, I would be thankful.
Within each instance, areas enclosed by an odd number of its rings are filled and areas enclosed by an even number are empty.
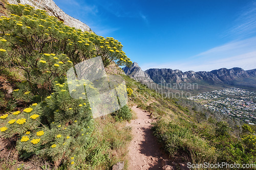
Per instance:
[[[148,68],[172,68],[182,71],[210,71],[224,67],[241,67],[245,70],[256,68],[256,37],[226,43],[184,61],[141,65],[143,70]]]

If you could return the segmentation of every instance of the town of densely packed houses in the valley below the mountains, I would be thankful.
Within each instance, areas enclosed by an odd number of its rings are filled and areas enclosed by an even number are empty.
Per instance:
[[[242,119],[256,125],[256,93],[241,88],[226,88],[199,93],[188,98],[208,109]]]

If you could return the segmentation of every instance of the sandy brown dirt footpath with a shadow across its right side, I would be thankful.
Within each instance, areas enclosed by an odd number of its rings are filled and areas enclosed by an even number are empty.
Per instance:
[[[129,145],[129,169],[161,169],[160,157],[163,157],[157,144],[157,139],[152,134],[150,123],[153,120],[150,114],[143,112],[135,106],[132,110],[137,113],[137,119],[131,120],[133,140]]]

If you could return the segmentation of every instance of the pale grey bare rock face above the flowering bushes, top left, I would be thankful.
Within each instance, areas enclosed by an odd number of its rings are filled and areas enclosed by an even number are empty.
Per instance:
[[[8,0],[8,2],[10,4],[18,4],[16,0]],[[75,27],[82,31],[91,31],[89,26],[63,12],[52,0],[20,0],[20,4],[28,4],[36,9],[46,10],[49,15],[59,18],[67,26]]]

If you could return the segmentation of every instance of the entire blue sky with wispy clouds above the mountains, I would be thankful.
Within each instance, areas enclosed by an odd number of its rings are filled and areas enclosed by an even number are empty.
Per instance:
[[[255,0],[53,0],[143,70],[256,68]]]

